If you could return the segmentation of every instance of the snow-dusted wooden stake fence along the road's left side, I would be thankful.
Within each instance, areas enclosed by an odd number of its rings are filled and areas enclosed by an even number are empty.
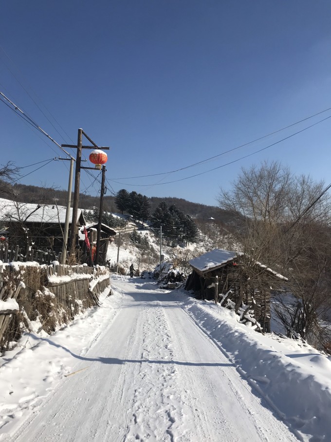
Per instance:
[[[110,278],[105,269],[0,265],[0,350],[31,330],[32,321],[50,333],[85,309],[99,306],[106,288],[110,290]]]

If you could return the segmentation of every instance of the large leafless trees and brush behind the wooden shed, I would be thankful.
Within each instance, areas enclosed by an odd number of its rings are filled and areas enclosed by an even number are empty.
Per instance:
[[[323,319],[331,307],[331,201],[327,193],[318,199],[324,183],[296,177],[280,163],[264,162],[242,169],[232,184],[231,191],[221,189],[219,204],[238,221],[237,238],[246,262],[250,257],[289,278],[286,290],[292,301],[278,293],[278,319],[288,336],[324,345],[328,338]]]

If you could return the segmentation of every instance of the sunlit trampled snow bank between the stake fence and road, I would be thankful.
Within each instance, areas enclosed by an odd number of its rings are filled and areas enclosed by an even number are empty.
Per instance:
[[[100,333],[106,332],[119,312],[121,297],[106,297],[108,293],[109,289],[100,296],[105,308],[86,310],[52,335],[42,330],[39,321],[31,321],[34,332],[25,333],[15,349],[0,357],[1,441],[36,412],[42,398],[76,370]]]

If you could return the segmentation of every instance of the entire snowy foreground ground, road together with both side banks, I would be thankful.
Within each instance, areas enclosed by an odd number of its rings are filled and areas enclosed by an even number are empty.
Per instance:
[[[2,358],[0,441],[331,440],[326,356],[152,280],[112,289]]]

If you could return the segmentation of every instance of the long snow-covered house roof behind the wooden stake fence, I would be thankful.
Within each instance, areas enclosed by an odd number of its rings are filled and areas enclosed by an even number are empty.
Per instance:
[[[78,210],[77,220],[81,214]],[[57,206],[54,204],[42,205],[37,209],[37,204],[32,203],[18,203],[8,199],[0,198],[0,219],[4,221],[9,220],[25,220],[32,223],[65,223],[66,207]],[[70,209],[69,222],[71,223],[73,217],[73,209]]]

